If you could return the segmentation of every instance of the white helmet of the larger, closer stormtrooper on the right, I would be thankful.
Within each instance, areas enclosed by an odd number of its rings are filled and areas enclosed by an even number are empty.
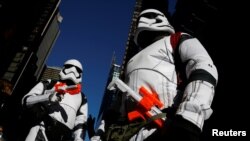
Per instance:
[[[138,36],[142,31],[175,33],[174,28],[170,25],[166,16],[156,9],[146,9],[140,13],[134,37],[136,45],[138,45]]]

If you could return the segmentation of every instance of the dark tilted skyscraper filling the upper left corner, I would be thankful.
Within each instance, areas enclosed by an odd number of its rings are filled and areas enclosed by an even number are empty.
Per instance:
[[[60,0],[1,0],[0,79],[13,86],[37,81],[59,35]],[[28,74],[28,76],[26,76]],[[29,84],[29,83],[26,83]]]

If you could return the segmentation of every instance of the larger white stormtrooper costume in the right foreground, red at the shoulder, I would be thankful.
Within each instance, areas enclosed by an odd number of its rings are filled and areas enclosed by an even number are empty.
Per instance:
[[[187,84],[175,115],[202,130],[204,120],[212,114],[210,106],[218,79],[217,69],[202,44],[186,33],[175,33],[164,14],[156,9],[140,13],[134,40],[142,50],[127,63],[126,84],[136,92],[143,86],[157,93],[163,109],[167,109],[178,95],[175,61],[179,58],[185,66]],[[126,96],[124,99],[130,100]],[[142,141],[156,130],[142,128],[130,141]]]

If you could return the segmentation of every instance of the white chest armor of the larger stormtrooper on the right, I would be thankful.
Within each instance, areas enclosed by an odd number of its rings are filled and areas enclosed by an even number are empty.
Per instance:
[[[165,107],[171,106],[177,85],[172,53],[169,37],[149,45],[129,60],[126,83],[136,92],[141,86],[156,92]]]

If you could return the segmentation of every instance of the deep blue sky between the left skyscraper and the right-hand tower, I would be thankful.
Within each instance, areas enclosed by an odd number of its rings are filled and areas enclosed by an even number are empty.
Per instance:
[[[173,0],[171,0],[173,1]],[[115,52],[121,64],[135,0],[62,0],[61,33],[47,65],[62,66],[75,58],[83,65],[83,92],[89,114],[97,117]]]

